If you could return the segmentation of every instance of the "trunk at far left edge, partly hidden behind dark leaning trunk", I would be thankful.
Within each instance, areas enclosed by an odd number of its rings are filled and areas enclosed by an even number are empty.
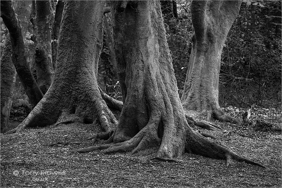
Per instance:
[[[22,25],[22,35],[25,41],[25,34],[27,31],[29,23],[29,5],[31,1],[16,1],[15,11],[18,14],[21,25]],[[5,132],[7,123],[10,117],[10,110],[12,106],[13,89],[16,81],[16,69],[13,65],[12,59],[12,46],[10,35],[7,35],[7,40],[5,42],[4,51],[1,57],[1,130],[0,132]]]

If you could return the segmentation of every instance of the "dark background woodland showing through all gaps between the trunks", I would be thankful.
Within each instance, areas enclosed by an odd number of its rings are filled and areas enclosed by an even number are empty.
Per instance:
[[[249,2],[249,3],[248,3]],[[243,1],[240,12],[230,29],[221,56],[219,104],[277,108],[281,106],[281,2]],[[191,53],[190,1],[161,1],[178,91],[181,97]],[[55,9],[55,7],[54,7]],[[175,10],[177,9],[177,14]],[[122,100],[116,73],[111,34],[111,13],[104,17],[104,43],[99,60],[98,84],[114,99]],[[1,52],[8,30],[1,18]],[[36,79],[32,24],[26,34],[25,52]],[[188,38],[188,40],[187,40]],[[30,112],[31,106],[19,78],[13,91],[8,129],[17,126]]]

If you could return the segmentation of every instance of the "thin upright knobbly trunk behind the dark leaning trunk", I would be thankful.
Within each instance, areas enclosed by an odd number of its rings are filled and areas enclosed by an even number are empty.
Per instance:
[[[52,64],[51,33],[54,13],[51,1],[36,1],[36,16],[31,19],[35,47],[35,69],[37,83],[43,94],[49,89],[54,76]]]

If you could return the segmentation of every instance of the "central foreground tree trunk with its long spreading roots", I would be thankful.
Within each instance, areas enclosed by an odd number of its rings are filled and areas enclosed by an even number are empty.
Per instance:
[[[123,110],[115,144],[74,150],[132,151],[152,146],[155,158],[171,160],[184,152],[259,165],[194,132],[185,119],[159,1],[112,1],[113,37],[123,91]],[[169,159],[164,159],[169,158]],[[262,166],[262,165],[260,165]]]

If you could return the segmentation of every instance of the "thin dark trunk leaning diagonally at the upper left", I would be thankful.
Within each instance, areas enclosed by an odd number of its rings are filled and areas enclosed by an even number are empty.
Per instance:
[[[18,15],[12,7],[11,1],[1,1],[1,17],[9,30],[13,64],[29,97],[30,103],[32,106],[35,106],[40,99],[42,99],[43,94],[32,76],[29,65],[26,62],[21,23]]]

